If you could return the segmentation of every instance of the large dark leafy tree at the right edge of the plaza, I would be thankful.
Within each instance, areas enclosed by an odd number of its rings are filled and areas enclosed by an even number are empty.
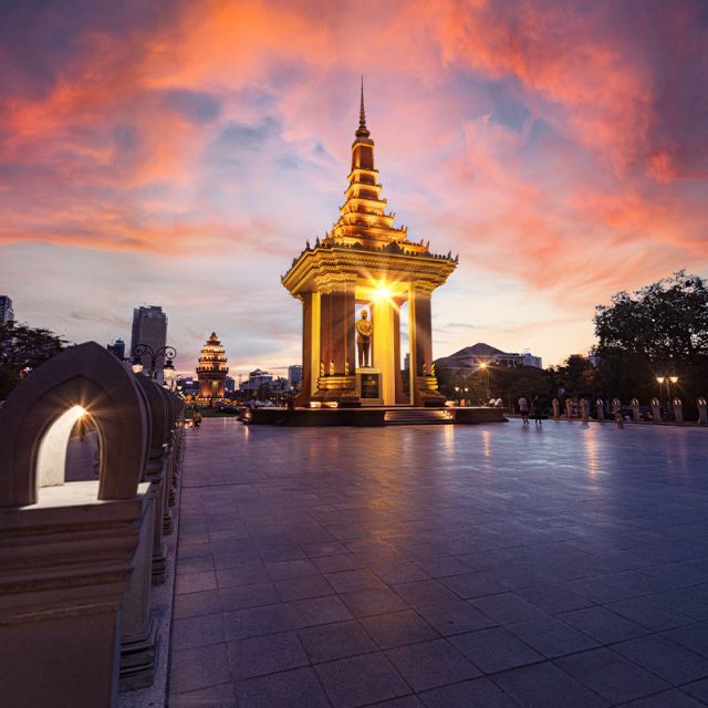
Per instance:
[[[594,317],[605,396],[648,398],[657,375],[677,375],[685,404],[706,395],[708,282],[685,271],[598,305]],[[700,391],[702,386],[702,391]]]

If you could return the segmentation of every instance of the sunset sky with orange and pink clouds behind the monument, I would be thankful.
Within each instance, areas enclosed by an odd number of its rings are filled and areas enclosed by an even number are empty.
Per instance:
[[[434,354],[544,365],[594,306],[708,275],[708,3],[4,2],[0,294],[73,342],[159,304],[178,368],[300,363],[280,283],[339,216],[364,75],[396,223],[460,264]]]

